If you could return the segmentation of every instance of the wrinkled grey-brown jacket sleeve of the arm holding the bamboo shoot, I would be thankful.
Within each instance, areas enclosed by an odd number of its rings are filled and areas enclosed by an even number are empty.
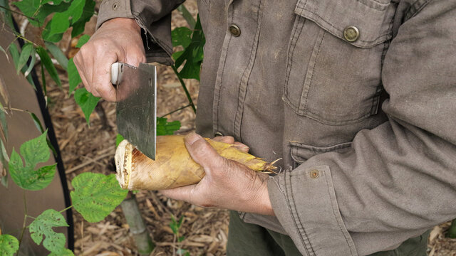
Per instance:
[[[456,1],[416,2],[385,55],[388,122],[269,179],[303,255],[392,250],[456,217]]]

